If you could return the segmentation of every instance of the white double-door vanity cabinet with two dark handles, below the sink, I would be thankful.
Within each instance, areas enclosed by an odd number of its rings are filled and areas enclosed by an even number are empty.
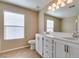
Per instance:
[[[67,44],[63,41],[55,41],[56,58],[79,58],[79,47],[76,44]],[[73,44],[73,45],[72,45]]]

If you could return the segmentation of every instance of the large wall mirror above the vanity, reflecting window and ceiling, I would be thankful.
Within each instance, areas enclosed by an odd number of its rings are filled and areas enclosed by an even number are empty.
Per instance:
[[[48,10],[44,14],[44,31],[45,32],[79,32],[79,2],[74,0],[73,3],[64,7]]]

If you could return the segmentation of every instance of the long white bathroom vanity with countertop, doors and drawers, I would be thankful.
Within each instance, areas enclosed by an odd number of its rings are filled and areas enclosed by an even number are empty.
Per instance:
[[[78,50],[79,39],[72,34],[36,34],[36,51],[43,58],[79,58]]]

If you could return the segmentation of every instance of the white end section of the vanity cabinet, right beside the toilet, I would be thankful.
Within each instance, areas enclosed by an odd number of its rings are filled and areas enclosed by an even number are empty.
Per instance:
[[[36,51],[42,56],[43,55],[43,40],[44,37],[40,34],[36,34]]]

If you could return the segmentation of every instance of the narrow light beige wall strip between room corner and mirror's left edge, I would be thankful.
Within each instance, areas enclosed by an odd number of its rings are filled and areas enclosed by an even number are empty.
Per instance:
[[[44,34],[44,14],[46,13],[48,9],[48,5],[42,8],[39,11],[38,19],[39,19],[39,33]]]

